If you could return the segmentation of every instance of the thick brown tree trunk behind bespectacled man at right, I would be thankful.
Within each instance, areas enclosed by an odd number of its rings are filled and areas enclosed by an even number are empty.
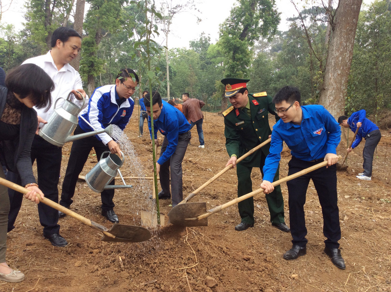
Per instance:
[[[319,103],[338,118],[344,114],[354,38],[362,0],[340,0],[328,46],[325,81]]]

